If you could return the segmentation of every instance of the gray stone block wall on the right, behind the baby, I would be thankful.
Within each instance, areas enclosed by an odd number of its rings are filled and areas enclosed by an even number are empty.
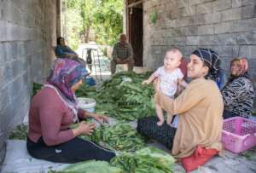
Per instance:
[[[155,24],[150,20],[154,12]],[[186,58],[194,49],[211,48],[221,56],[227,74],[232,58],[247,57],[255,84],[255,0],[147,0],[143,14],[144,66],[161,66],[172,47],[182,49]]]

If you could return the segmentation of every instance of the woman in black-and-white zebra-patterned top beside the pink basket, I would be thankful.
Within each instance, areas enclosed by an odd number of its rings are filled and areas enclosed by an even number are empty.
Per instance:
[[[245,58],[235,58],[230,63],[230,78],[221,91],[224,100],[224,118],[251,116],[254,89],[247,69],[248,63]]]

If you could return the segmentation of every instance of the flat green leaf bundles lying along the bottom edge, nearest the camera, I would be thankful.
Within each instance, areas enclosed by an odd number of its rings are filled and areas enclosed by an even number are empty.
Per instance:
[[[85,161],[67,166],[65,173],[172,173],[174,159],[154,147],[144,147],[136,153],[120,153],[110,164],[103,161]]]

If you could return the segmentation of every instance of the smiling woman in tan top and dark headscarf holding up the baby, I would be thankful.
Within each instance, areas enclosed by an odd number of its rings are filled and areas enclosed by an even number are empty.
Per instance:
[[[197,49],[190,55],[187,88],[171,99],[158,89],[154,101],[166,112],[179,115],[177,129],[167,124],[157,126],[157,118],[138,120],[137,131],[164,144],[181,159],[188,171],[197,169],[222,150],[221,131],[224,104],[215,82],[220,60],[211,49]]]

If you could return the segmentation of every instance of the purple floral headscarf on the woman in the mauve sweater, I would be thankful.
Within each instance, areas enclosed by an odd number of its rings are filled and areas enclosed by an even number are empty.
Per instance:
[[[78,101],[71,88],[86,75],[88,72],[78,61],[57,58],[51,66],[50,75],[47,79],[48,84],[44,85],[44,87],[55,89],[65,105],[72,109],[74,122],[78,117]]]

